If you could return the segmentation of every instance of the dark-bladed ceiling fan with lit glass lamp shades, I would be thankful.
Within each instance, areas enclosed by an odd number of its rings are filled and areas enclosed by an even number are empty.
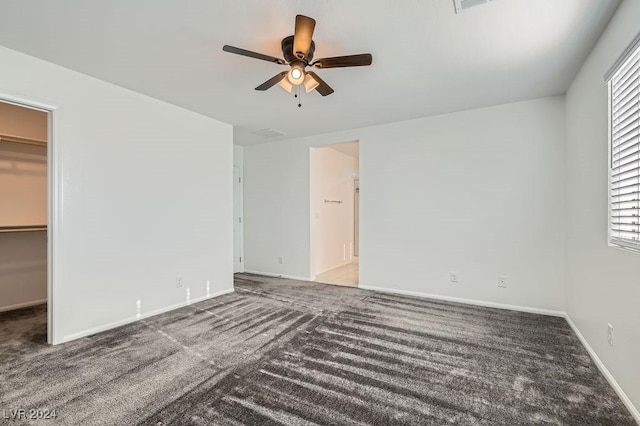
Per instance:
[[[262,59],[278,65],[289,65],[288,71],[276,74],[265,81],[256,90],[267,90],[276,84],[280,85],[287,92],[291,93],[294,88],[304,87],[307,93],[317,90],[322,96],[333,93],[333,89],[313,71],[306,71],[307,66],[315,68],[342,68],[342,67],[362,67],[371,65],[372,56],[370,53],[348,56],[334,56],[313,60],[313,53],[316,44],[313,41],[313,30],[316,21],[308,16],[297,15],[294,35],[282,39],[282,55],[284,59],[250,50],[240,49],[225,45],[222,50],[236,55],[248,56],[250,58]]]

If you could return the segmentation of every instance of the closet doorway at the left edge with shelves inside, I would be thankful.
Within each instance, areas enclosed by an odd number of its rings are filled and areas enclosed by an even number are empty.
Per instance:
[[[0,98],[0,321],[53,341],[51,111]]]

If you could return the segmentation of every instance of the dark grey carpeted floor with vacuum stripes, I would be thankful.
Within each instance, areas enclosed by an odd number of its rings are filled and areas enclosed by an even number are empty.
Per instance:
[[[236,275],[236,292],[59,346],[0,314],[0,423],[632,425],[564,319]]]

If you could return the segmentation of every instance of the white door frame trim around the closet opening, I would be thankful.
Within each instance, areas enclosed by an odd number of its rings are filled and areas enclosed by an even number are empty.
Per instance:
[[[55,138],[58,107],[8,93],[0,93],[0,102],[47,114],[47,343],[52,345],[58,342],[54,326],[57,283],[55,254],[62,234],[62,150]]]

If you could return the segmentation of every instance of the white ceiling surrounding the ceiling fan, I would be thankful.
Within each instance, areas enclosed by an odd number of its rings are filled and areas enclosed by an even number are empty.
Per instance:
[[[20,0],[0,5],[0,44],[202,113],[242,145],[566,92],[619,0]],[[302,108],[284,70],[222,52],[281,57],[296,14],[317,20],[316,58],[370,52],[373,65],[319,70],[335,93]],[[276,139],[278,140],[278,139]]]

